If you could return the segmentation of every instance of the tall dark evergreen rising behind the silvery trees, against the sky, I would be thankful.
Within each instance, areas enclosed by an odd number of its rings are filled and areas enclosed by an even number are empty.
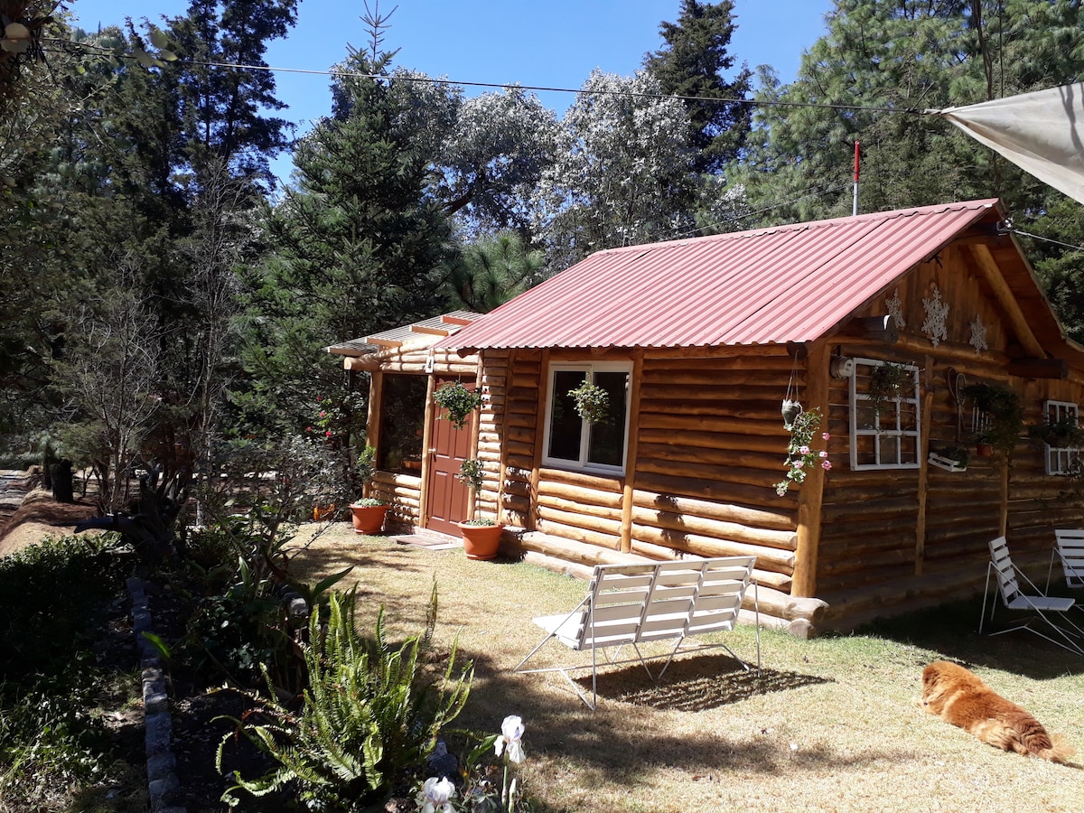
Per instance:
[[[749,105],[730,100],[747,98],[752,72],[743,64],[733,79],[724,78],[736,64],[726,51],[736,27],[733,13],[733,0],[682,0],[678,22],[659,26],[666,46],[644,57],[644,67],[663,93],[695,96],[685,101],[685,108],[701,172],[720,172],[735,160],[751,127]]]

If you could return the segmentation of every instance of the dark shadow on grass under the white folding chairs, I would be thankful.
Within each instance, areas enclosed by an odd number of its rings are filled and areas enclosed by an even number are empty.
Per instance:
[[[1084,595],[1074,596],[1084,604]],[[1070,610],[1073,623],[1084,627],[1084,607]],[[931,649],[946,660],[968,667],[986,667],[1024,675],[1033,680],[1051,680],[1064,674],[1084,673],[1084,657],[1062,649],[1029,630],[998,633],[1029,618],[1028,614],[1005,609],[998,604],[993,620],[990,604],[985,609],[982,633],[979,617],[982,615],[982,596],[950,602],[927,609],[916,610],[898,618],[881,619],[866,624],[855,634],[868,634]],[[1047,614],[1057,616],[1058,614]],[[1045,633],[1046,624],[1032,616],[1032,627]]]

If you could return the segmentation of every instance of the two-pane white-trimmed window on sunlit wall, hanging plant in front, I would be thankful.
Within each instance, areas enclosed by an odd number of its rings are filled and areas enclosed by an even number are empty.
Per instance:
[[[629,440],[629,380],[632,364],[553,364],[545,412],[542,462],[562,468],[623,474]],[[606,420],[592,424],[576,412],[569,392],[584,380],[609,397]]]

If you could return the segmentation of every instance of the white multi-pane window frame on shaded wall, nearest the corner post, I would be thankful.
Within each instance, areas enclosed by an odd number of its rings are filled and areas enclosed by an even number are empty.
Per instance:
[[[869,400],[869,396],[859,391],[859,379],[868,378],[873,367],[883,366],[890,363],[880,359],[854,359],[854,370],[850,380],[850,435],[851,435],[851,468],[853,470],[875,470],[895,468],[918,468],[920,440],[921,440],[921,409],[918,384],[918,366],[915,364],[901,364],[900,366],[911,371],[914,388],[909,395],[900,396],[893,399],[895,404],[894,414],[890,420],[882,420],[880,415],[874,416],[873,426],[859,426],[860,411],[863,403]],[[891,362],[894,363],[894,362]],[[914,427],[904,428],[902,416],[907,409],[913,411],[915,416]],[[859,462],[859,447],[873,442],[874,462]],[[914,449],[912,455],[906,447]],[[888,452],[892,452],[888,454]],[[885,457],[885,460],[882,460]]]

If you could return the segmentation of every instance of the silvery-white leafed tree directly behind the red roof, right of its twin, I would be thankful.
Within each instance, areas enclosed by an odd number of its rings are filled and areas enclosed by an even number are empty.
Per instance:
[[[601,248],[683,235],[700,189],[688,117],[646,72],[597,68],[562,120],[557,158],[534,197],[551,270]]]

